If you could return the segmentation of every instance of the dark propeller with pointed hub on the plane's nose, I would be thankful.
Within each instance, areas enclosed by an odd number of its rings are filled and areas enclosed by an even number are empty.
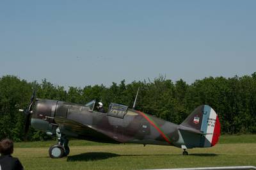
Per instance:
[[[19,111],[23,112],[24,115],[26,116],[26,118],[25,118],[26,119],[26,121],[25,121],[25,128],[24,128],[25,139],[27,138],[27,134],[28,134],[28,130],[29,130],[29,125],[30,125],[30,121],[31,121],[31,114],[32,114],[32,105],[33,105],[33,102],[34,102],[35,95],[36,95],[36,91],[34,90],[33,91],[33,95],[30,98],[30,104],[29,104],[28,108],[26,108],[26,109],[19,109]]]

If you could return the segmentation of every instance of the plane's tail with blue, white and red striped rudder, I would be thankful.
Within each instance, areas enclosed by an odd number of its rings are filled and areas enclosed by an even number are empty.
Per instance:
[[[220,121],[216,112],[209,105],[200,105],[184,120],[179,129],[188,145],[193,147],[211,147],[218,143]],[[192,133],[192,134],[191,134]],[[199,135],[200,134],[200,135]],[[192,138],[189,140],[188,138]],[[186,140],[187,139],[187,140]]]

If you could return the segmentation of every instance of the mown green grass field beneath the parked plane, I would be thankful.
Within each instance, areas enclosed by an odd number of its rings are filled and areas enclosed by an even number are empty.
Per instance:
[[[173,146],[102,144],[70,141],[70,155],[49,158],[55,141],[15,143],[14,157],[25,169],[156,169],[175,167],[256,166],[256,135],[222,135],[212,148],[182,150]]]

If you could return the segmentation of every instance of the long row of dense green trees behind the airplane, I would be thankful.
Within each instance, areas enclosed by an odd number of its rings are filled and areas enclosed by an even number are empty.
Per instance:
[[[36,98],[63,100],[86,104],[97,99],[105,109],[111,102],[133,105],[138,88],[136,109],[173,123],[182,123],[198,105],[208,104],[219,115],[222,134],[252,134],[256,132],[256,72],[242,77],[205,77],[187,84],[180,79],[173,82],[164,76],[154,80],[121,81],[111,86],[84,88],[54,86],[46,79],[28,82],[13,75],[0,78],[0,139],[9,137],[24,140],[24,115],[19,109],[28,107],[33,89]],[[27,139],[49,139],[30,127]]]

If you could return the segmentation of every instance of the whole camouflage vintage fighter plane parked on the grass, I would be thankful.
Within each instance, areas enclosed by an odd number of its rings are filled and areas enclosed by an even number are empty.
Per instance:
[[[176,146],[188,155],[186,149],[214,146],[220,136],[218,115],[209,105],[197,107],[176,125],[121,104],[111,103],[108,112],[98,112],[96,100],[82,105],[45,99],[34,102],[34,98],[35,92],[28,109],[20,111],[27,116],[26,131],[31,123],[32,127],[58,137],[58,143],[49,148],[51,158],[68,155],[67,137],[100,143]]]

